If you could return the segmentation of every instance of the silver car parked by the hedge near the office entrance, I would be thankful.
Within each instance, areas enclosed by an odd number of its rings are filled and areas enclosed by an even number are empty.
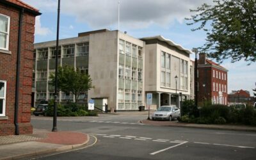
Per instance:
[[[173,120],[179,116],[180,109],[176,106],[161,106],[152,114],[152,120]]]

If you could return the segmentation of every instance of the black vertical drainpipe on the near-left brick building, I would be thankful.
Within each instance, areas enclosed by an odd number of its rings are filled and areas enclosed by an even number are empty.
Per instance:
[[[15,84],[15,111],[14,111],[14,125],[15,135],[19,135],[19,89],[20,89],[20,50],[21,50],[21,32],[24,8],[20,10],[19,15],[19,32],[18,32],[18,48],[17,48],[17,68],[16,68],[16,84]]]

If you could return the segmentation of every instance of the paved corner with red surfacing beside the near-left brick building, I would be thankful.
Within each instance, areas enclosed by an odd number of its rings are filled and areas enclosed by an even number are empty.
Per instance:
[[[0,136],[0,159],[22,159],[83,147],[90,140],[80,132],[34,129],[33,134]]]

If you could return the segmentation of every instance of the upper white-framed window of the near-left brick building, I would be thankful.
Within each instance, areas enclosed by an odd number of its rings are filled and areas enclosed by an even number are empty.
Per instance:
[[[0,49],[9,48],[10,17],[0,14]]]

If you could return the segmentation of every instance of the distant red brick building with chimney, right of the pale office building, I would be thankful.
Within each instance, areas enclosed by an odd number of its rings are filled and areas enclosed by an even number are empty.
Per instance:
[[[200,54],[198,60],[198,102],[211,100],[212,104],[226,104],[228,97],[228,70]]]

